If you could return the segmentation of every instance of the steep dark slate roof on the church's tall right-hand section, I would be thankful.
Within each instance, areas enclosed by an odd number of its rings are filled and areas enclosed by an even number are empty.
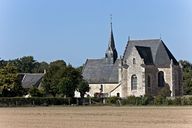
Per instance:
[[[141,58],[144,59],[146,65],[153,64],[157,67],[169,67],[171,59],[174,65],[178,65],[177,60],[171,54],[169,49],[160,39],[150,40],[129,40],[125,48],[123,59],[126,60],[131,55],[131,49],[136,47]],[[150,48],[150,50],[149,50]],[[142,51],[144,50],[144,51]],[[148,54],[149,56],[146,56]],[[152,56],[152,60],[151,60]]]

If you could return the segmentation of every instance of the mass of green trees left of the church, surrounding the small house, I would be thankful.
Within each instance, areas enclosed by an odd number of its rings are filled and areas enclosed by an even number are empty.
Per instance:
[[[40,88],[22,87],[19,73],[43,73],[45,70]],[[0,96],[74,97],[74,92],[78,91],[83,97],[89,91],[89,84],[83,79],[81,70],[82,67],[75,68],[64,60],[38,62],[32,56],[0,60]]]

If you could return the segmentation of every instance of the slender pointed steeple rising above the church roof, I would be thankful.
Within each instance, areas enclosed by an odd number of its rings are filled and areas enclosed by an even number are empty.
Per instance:
[[[114,36],[113,36],[112,15],[111,15],[110,27],[111,27],[111,32],[110,32],[110,37],[109,37],[108,48],[105,53],[105,58],[108,60],[108,62],[115,63],[115,61],[118,57],[118,54],[117,54],[117,50],[115,48],[115,41],[114,41]]]

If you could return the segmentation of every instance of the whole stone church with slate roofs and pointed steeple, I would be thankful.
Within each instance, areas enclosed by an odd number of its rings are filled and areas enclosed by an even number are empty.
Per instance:
[[[83,77],[89,83],[90,96],[155,96],[165,86],[171,96],[183,92],[182,66],[161,39],[129,39],[118,58],[112,23],[104,58],[87,59]]]

